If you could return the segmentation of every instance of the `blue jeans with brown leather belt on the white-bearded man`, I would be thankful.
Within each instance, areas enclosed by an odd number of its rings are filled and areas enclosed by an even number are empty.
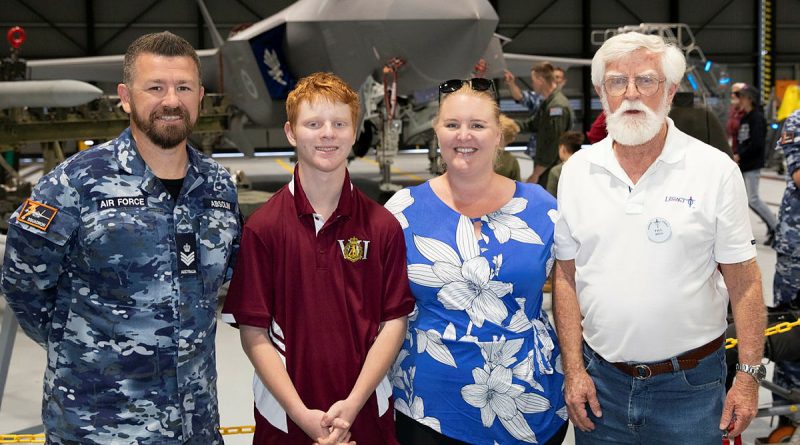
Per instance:
[[[584,344],[586,370],[594,380],[603,417],[589,417],[594,431],[575,429],[577,445],[719,445],[725,399],[725,350],[696,368],[638,380]]]

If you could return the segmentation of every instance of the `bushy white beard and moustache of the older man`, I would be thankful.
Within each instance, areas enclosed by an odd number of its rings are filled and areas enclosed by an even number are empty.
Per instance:
[[[600,101],[606,112],[606,131],[622,145],[642,145],[656,137],[667,119],[670,108],[666,94],[661,101],[661,106],[656,111],[651,110],[641,101],[624,100],[617,111],[609,113],[608,99],[605,94]],[[626,116],[625,112],[631,110],[642,111],[644,116]]]

